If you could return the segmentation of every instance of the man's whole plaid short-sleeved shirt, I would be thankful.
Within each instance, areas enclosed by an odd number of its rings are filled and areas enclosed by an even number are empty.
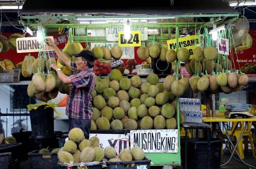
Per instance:
[[[92,118],[92,92],[96,78],[92,68],[78,71],[76,63],[70,64],[73,74],[69,76],[72,86],[67,99],[66,115],[76,119]]]

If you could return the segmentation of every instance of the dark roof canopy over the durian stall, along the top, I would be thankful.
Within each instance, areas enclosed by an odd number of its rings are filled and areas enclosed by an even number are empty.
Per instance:
[[[170,0],[26,0],[21,15],[42,14],[88,14],[108,16],[132,16],[132,15],[158,15],[191,17],[197,14],[199,17],[209,14],[228,14],[224,16],[238,16],[240,13],[221,0],[174,0],[171,6]]]

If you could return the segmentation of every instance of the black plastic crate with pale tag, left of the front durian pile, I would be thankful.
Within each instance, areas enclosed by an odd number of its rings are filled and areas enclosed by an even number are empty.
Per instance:
[[[53,149],[49,149],[52,151]],[[40,153],[35,150],[28,153],[30,169],[59,169],[57,153]]]

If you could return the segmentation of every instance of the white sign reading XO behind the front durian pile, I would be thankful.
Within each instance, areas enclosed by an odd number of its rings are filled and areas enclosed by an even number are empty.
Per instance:
[[[90,137],[96,134],[90,134]],[[100,139],[100,147],[103,149],[107,146],[114,147],[117,155],[122,149],[129,149],[129,135],[124,134],[98,134],[97,137]]]

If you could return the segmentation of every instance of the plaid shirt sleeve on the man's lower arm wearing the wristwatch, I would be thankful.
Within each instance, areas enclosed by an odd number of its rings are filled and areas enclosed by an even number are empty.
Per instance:
[[[90,81],[90,76],[87,72],[73,74],[69,76],[69,78],[71,82],[76,86],[76,88],[86,87]]]

